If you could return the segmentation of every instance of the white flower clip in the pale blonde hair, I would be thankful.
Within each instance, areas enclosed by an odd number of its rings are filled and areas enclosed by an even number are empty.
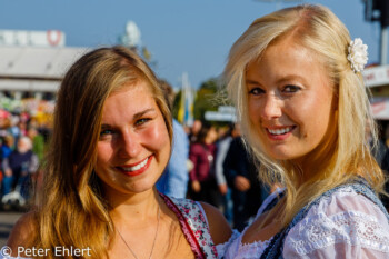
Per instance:
[[[368,46],[363,44],[360,38],[351,40],[349,44],[349,54],[347,59],[351,63],[351,69],[353,72],[360,72],[363,70],[365,64],[368,62]]]

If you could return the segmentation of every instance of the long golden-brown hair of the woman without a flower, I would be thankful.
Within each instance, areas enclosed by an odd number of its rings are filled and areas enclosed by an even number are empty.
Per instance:
[[[107,98],[138,81],[147,81],[172,139],[172,119],[151,69],[123,47],[100,48],[81,57],[59,89],[54,127],[38,196],[37,237],[32,246],[90,248],[92,258],[107,258],[114,229],[108,202],[93,168]],[[66,257],[64,258],[70,258]],[[82,257],[83,258],[83,257]]]

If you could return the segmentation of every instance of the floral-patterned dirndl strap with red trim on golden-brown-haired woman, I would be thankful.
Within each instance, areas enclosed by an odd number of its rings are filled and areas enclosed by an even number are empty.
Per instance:
[[[179,218],[179,220],[182,227],[182,232],[187,237],[192,251],[194,252],[197,250],[196,245],[193,243],[194,240],[191,240],[191,235],[194,235],[194,238],[200,245],[202,253],[206,256],[206,258],[217,258],[218,253],[209,232],[207,220],[205,218],[206,216],[201,212],[198,205],[192,200],[176,199],[171,197],[170,199],[184,217],[184,219]],[[171,205],[168,206],[171,208]],[[190,229],[184,228],[181,220],[184,220],[189,225]],[[196,258],[202,258],[202,256],[199,255],[199,251],[196,253]]]

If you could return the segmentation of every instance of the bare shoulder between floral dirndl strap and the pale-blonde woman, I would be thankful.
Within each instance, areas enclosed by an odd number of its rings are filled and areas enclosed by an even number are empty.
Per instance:
[[[232,235],[232,230],[226,218],[213,206],[206,202],[200,203],[207,215],[209,230],[215,245],[227,242]]]

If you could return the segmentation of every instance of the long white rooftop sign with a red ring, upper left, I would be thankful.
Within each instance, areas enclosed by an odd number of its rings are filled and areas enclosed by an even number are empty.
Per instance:
[[[0,46],[63,47],[64,33],[59,30],[0,30]]]

